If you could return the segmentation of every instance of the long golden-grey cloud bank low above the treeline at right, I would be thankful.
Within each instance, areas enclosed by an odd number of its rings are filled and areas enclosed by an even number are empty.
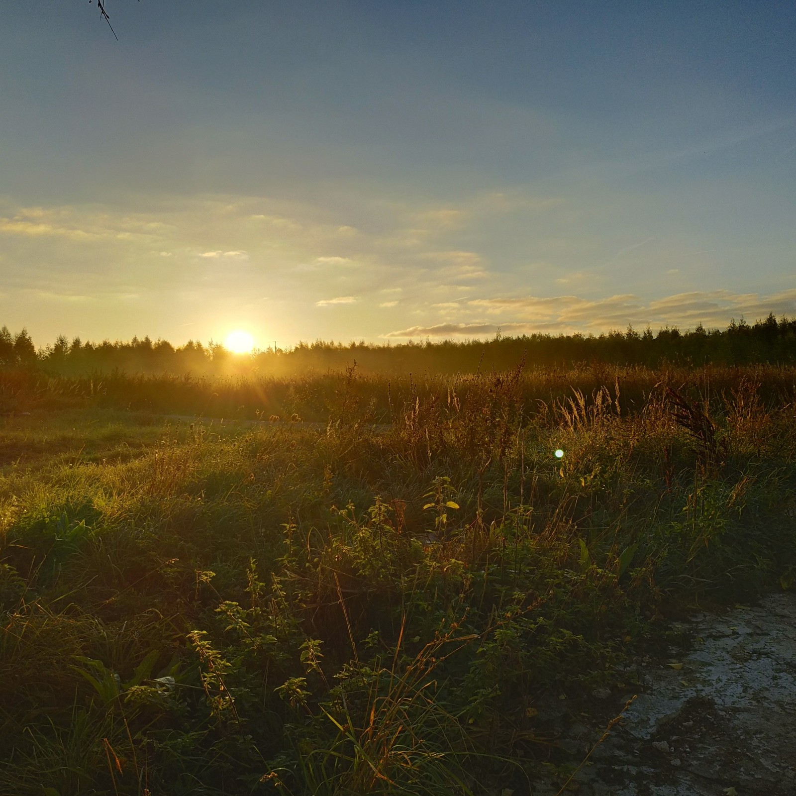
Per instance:
[[[451,302],[432,305],[443,312]],[[440,335],[465,335],[478,337],[495,334],[501,329],[505,334],[532,334],[533,332],[599,333],[624,329],[629,324],[636,327],[679,326],[693,328],[726,326],[732,318],[755,321],[769,313],[796,314],[796,288],[772,295],[733,293],[732,291],[691,291],[643,301],[631,294],[606,298],[587,299],[575,295],[520,296],[515,298],[476,298],[463,304],[470,314],[486,311],[490,315],[511,314],[505,322],[487,322],[472,318],[469,322],[437,323],[430,326],[411,326],[390,332],[390,338],[417,338]]]

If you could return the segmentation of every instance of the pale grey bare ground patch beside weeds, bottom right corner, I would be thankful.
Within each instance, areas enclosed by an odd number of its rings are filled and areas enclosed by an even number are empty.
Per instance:
[[[577,775],[579,794],[796,796],[796,595],[687,630],[674,667],[640,672],[643,693]]]

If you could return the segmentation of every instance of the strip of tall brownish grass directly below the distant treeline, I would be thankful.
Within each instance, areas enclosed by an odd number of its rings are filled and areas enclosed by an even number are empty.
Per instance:
[[[642,366],[583,365],[568,369],[523,367],[507,371],[443,375],[439,373],[388,375],[361,373],[356,366],[341,371],[305,373],[295,377],[192,377],[128,376],[97,373],[93,376],[50,377],[37,371],[0,369],[0,412],[27,412],[36,408],[97,407],[135,412],[197,415],[206,418],[301,419],[326,423],[347,412],[361,421],[392,423],[406,404],[447,406],[455,393],[466,404],[471,392],[487,380],[516,373],[517,396],[527,418],[569,404],[577,395],[600,394],[603,388],[618,393],[622,412],[641,412],[662,386],[699,392],[714,408],[716,402],[740,391],[752,390],[762,406],[794,400],[796,367],[754,365],[749,367],[648,369]],[[491,384],[491,381],[489,382]],[[551,416],[551,422],[557,422]]]

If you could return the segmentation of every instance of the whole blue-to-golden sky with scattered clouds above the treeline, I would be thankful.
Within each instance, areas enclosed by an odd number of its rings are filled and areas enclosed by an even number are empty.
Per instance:
[[[796,315],[796,4],[0,12],[0,326],[262,348]]]

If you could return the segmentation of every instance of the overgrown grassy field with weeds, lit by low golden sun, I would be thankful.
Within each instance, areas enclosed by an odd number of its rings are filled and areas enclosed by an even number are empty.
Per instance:
[[[792,587],[794,384],[6,374],[0,794],[563,785],[562,703]]]

